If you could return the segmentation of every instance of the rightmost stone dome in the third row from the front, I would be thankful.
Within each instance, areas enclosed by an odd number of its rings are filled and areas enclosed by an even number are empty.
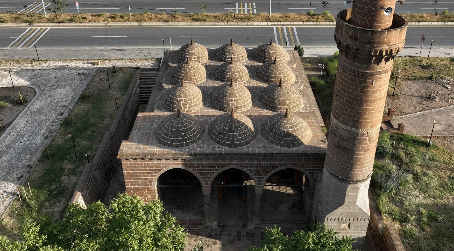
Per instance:
[[[291,84],[295,82],[295,74],[290,67],[281,63],[278,59],[263,64],[257,69],[257,78],[268,84],[276,84],[282,80],[282,84]]]

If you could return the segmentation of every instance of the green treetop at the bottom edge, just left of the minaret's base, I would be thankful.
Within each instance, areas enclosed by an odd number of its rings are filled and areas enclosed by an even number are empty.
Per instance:
[[[350,236],[339,238],[336,232],[323,224],[316,224],[313,231],[293,231],[292,236],[283,235],[281,228],[266,228],[262,248],[253,246],[249,251],[352,251]]]

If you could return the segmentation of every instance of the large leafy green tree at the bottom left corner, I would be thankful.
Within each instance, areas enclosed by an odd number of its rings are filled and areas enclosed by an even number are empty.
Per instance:
[[[162,202],[143,205],[126,192],[106,207],[97,201],[87,208],[72,204],[62,221],[42,217],[25,226],[24,241],[0,237],[0,250],[11,251],[182,251],[186,232]]]

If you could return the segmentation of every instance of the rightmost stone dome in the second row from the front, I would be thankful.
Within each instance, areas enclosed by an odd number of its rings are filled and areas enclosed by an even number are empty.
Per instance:
[[[273,112],[296,112],[303,106],[303,101],[298,91],[291,85],[270,84],[258,95],[260,103]]]

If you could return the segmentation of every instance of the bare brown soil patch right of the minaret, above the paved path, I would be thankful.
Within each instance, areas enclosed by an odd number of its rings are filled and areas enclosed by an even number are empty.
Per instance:
[[[454,105],[454,86],[448,89],[428,79],[398,81],[396,93],[399,95],[393,96],[390,91],[385,105],[386,110],[394,108],[396,116]]]

